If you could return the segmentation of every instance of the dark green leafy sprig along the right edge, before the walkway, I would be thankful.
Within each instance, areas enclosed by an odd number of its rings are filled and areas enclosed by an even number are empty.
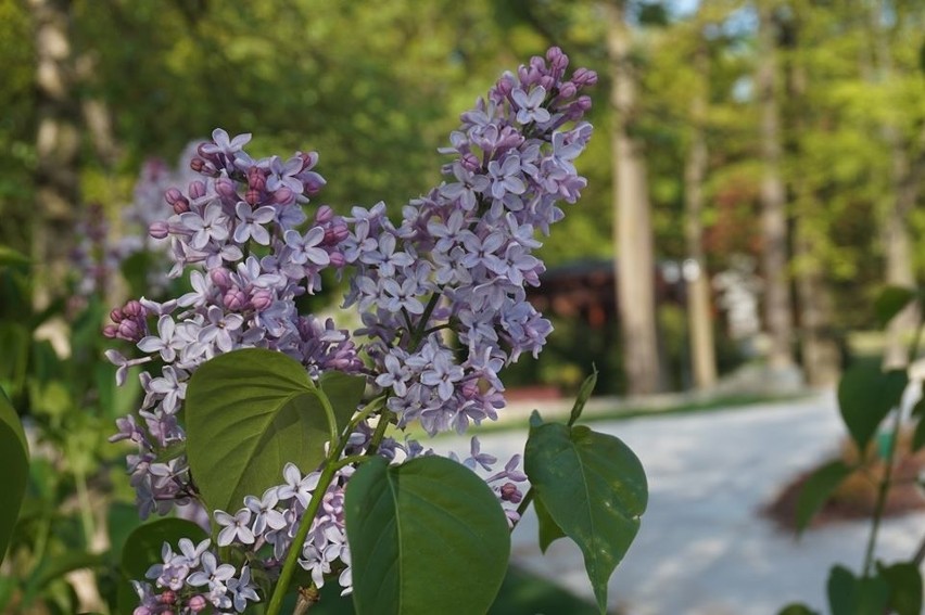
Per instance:
[[[882,326],[912,305],[917,307],[918,324],[909,348],[909,364],[918,351],[922,336],[922,291],[897,286],[886,287],[875,304],[876,317]],[[839,485],[863,466],[871,454],[874,437],[882,433],[887,443],[883,452],[885,471],[877,478],[877,495],[871,517],[871,530],[864,549],[860,575],[856,576],[842,565],[832,567],[827,594],[833,615],[882,614],[920,615],[922,612],[922,574],[925,559],[925,537],[909,561],[885,564],[876,560],[877,534],[886,509],[887,497],[894,484],[897,448],[902,425],[914,422],[911,452],[925,446],[925,390],[911,412],[902,406],[903,394],[910,385],[907,369],[882,370],[877,367],[858,366],[842,375],[838,385],[838,407],[859,460],[847,463],[832,461],[816,470],[807,481],[797,502],[797,529],[804,530],[813,516],[832,498]],[[780,615],[812,615],[803,604],[790,604]]]

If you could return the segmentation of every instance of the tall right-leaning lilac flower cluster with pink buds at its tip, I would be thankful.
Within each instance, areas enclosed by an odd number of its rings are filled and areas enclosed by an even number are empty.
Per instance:
[[[573,203],[585,185],[573,161],[591,125],[561,127],[590,107],[579,92],[596,75],[580,68],[566,80],[567,65],[550,49],[463,114],[442,150],[454,156],[447,180],[405,207],[398,227],[381,203],[347,218],[344,257],[356,273],[344,306],[363,316],[358,333],[372,338],[376,383],[391,388],[400,426],[463,433],[495,419],[498,372],[521,353],[535,356],[552,331],[523,286],[538,285],[544,270],[532,254],[536,231],[548,233],[563,215],[556,203]],[[461,360],[446,331],[463,345]]]

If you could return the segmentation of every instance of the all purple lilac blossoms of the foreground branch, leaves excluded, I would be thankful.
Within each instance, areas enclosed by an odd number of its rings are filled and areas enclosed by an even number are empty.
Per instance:
[[[400,222],[383,203],[347,215],[312,206],[326,183],[314,152],[253,158],[244,150],[250,134],[221,129],[199,145],[191,162],[198,177],[185,190],[168,188],[172,215],[149,223],[152,238],[169,241],[169,276],[188,276],[191,290],[161,303],[130,300],[104,329],[140,351],[107,353],[118,381],[129,368],[144,370],[141,408],[118,421],[112,438],[137,447],[127,462],[142,517],[200,507],[182,452],[187,382],[205,361],[238,348],[283,353],[313,379],[332,370],[367,379],[378,411],[357,424],[344,458],[398,463],[432,454],[414,439],[385,437],[389,424],[461,434],[497,419],[500,371],[523,353],[536,356],[552,331],[524,291],[544,271],[533,254],[537,231],[547,234],[563,216],[558,204],[574,203],[585,185],[573,163],[592,132],[581,121],[591,106],[581,92],[596,75],[579,68],[567,77],[567,66],[553,48],[504,74],[440,150],[449,156],[445,180],[408,203]],[[341,307],[358,316],[355,331],[296,307],[321,291],[328,269],[349,284]],[[493,488],[510,524],[527,478],[519,461],[496,470],[474,438],[461,461]],[[314,584],[337,577],[344,593],[352,581],[343,496],[353,470],[338,471],[297,546]],[[239,510],[206,511],[215,543],[181,541],[178,553],[165,544],[163,562],[135,584],[136,613],[243,612],[259,600],[255,579],[271,584],[279,575],[319,475],[289,463],[278,486],[248,496]],[[229,547],[248,563],[219,563],[216,548]]]

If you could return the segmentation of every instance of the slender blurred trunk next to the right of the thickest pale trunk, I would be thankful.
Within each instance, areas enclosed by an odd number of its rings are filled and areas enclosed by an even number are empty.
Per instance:
[[[717,383],[717,353],[713,343],[713,322],[710,308],[710,277],[704,254],[704,179],[707,176],[707,139],[704,124],[707,115],[708,67],[702,46],[697,50],[695,65],[699,88],[690,103],[690,144],[684,165],[685,239],[687,260],[684,279],[687,282],[687,326],[690,331],[690,363],[694,386],[710,388]]]

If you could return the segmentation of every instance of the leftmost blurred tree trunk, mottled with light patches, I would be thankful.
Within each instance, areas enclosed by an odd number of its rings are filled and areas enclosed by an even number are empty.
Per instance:
[[[71,2],[29,0],[38,87],[34,303],[47,307],[64,286],[79,203],[79,106],[73,95]]]

